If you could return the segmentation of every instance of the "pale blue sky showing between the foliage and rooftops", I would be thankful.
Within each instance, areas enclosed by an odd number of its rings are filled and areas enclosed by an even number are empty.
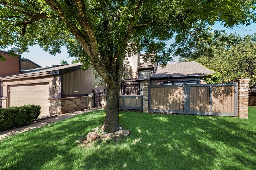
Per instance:
[[[240,35],[256,33],[256,23],[248,25],[247,27],[246,26],[239,26],[239,27],[241,27],[245,30],[251,30],[251,29],[252,30],[245,31],[238,27],[235,27],[234,29],[227,29],[227,28],[223,27],[223,25],[220,25],[220,24],[215,24],[213,26],[213,30],[225,30],[228,34],[237,32]],[[166,43],[167,47],[171,43],[173,43],[173,41],[174,41],[173,39],[168,41]],[[38,45],[29,47],[29,53],[23,53],[22,57],[28,58],[28,59],[34,61],[35,63],[39,64],[42,67],[60,64],[60,60],[62,60],[62,59],[65,61],[68,61],[69,63],[74,59],[74,58],[71,58],[68,56],[67,49],[65,47],[62,47],[60,54],[52,56],[48,52],[45,52],[44,50],[42,50]],[[173,61],[177,62],[178,58],[175,57],[173,59]]]

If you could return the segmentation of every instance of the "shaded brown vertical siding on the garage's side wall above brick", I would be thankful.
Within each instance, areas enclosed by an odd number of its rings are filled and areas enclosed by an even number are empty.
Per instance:
[[[62,77],[63,82],[63,95],[83,95],[92,93],[92,89],[95,88],[95,76],[93,74],[92,69],[88,69],[86,71],[76,70],[70,73],[63,74]],[[101,87],[97,87],[96,89],[106,89],[106,84],[103,83]],[[78,91],[78,92],[74,92]]]

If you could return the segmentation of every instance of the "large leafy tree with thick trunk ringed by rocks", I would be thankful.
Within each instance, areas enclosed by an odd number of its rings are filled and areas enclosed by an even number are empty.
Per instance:
[[[1,0],[0,47],[24,51],[38,44],[55,55],[69,55],[92,65],[108,84],[104,128],[119,126],[119,89],[124,60],[144,50],[145,60],[162,67],[172,60],[165,42],[189,33],[198,22],[226,27],[255,22],[255,0]],[[129,46],[127,45],[129,42]],[[129,48],[127,48],[129,47]]]

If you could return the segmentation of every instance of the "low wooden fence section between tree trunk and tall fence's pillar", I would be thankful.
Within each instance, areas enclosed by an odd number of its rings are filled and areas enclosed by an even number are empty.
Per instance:
[[[143,110],[142,96],[119,96],[119,108]]]

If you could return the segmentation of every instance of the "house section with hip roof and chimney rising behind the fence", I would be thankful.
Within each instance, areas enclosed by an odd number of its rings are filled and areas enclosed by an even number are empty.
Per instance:
[[[121,95],[142,95],[140,89],[144,83],[150,85],[202,84],[204,77],[215,73],[195,61],[174,62],[161,68],[157,63],[144,62],[143,55],[145,54],[137,54],[127,59],[129,66],[124,70],[126,79],[122,81]]]

